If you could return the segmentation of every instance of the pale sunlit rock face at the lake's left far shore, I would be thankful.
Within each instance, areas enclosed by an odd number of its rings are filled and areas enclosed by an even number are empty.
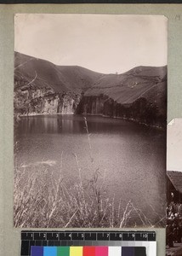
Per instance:
[[[19,89],[14,91],[14,111],[22,115],[73,114],[80,97],[74,92],[56,93],[50,88]]]

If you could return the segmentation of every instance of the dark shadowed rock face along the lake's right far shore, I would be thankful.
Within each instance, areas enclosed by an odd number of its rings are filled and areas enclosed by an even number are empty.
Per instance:
[[[166,114],[160,113],[155,104],[144,97],[131,104],[120,104],[108,96],[83,96],[77,113],[103,115],[112,118],[133,120],[145,125],[165,127]]]

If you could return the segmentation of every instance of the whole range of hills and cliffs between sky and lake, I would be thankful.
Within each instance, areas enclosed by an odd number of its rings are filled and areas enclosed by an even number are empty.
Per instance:
[[[14,113],[102,114],[166,125],[167,67],[102,74],[20,53],[14,65]]]

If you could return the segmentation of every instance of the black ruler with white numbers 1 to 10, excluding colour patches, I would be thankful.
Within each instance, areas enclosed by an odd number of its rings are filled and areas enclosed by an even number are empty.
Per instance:
[[[21,256],[31,256],[31,247],[146,247],[156,256],[155,231],[21,231]]]

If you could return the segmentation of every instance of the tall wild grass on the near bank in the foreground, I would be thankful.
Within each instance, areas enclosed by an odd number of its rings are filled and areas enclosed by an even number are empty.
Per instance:
[[[151,219],[128,201],[123,208],[121,201],[117,203],[115,196],[105,195],[105,173],[94,170],[94,157],[87,119],[84,118],[88,137],[90,160],[93,166],[92,177],[85,181],[82,178],[82,166],[77,154],[73,157],[77,163],[77,181],[71,186],[65,183],[62,172],[64,152],[60,155],[60,173],[54,169],[26,168],[18,170],[14,165],[14,226],[51,228],[82,227],[123,228],[131,225],[153,226]],[[133,220],[135,219],[135,222]],[[155,226],[161,226],[165,218],[158,218]]]

